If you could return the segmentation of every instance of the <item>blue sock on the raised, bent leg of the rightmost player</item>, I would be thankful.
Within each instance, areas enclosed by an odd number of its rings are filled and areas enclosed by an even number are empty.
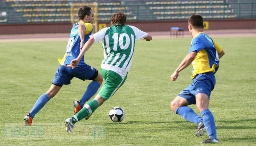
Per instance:
[[[179,114],[182,116],[184,119],[193,122],[195,124],[199,124],[203,119],[194,112],[190,107],[183,106],[183,107],[178,107],[175,111],[176,114]]]

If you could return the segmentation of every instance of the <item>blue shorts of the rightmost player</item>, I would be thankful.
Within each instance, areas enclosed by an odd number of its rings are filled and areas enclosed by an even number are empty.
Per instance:
[[[204,93],[210,99],[211,91],[215,86],[215,76],[213,72],[198,74],[190,84],[178,96],[185,98],[190,104],[196,104],[196,95]]]

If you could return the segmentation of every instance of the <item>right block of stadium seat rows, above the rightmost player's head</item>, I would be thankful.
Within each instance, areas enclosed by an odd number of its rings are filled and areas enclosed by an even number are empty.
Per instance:
[[[192,14],[202,14],[205,18],[235,18],[232,9],[224,0],[194,0],[146,2],[157,20],[187,19]]]

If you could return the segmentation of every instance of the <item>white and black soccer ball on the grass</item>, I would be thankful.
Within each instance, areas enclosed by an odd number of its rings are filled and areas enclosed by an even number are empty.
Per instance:
[[[113,107],[112,109],[110,109],[108,115],[110,120],[112,120],[113,122],[121,122],[122,120],[124,120],[125,114],[122,108]]]

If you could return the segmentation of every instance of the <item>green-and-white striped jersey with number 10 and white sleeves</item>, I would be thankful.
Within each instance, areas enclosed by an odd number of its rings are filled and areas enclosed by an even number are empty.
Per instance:
[[[135,41],[146,36],[146,32],[124,25],[104,28],[90,37],[94,37],[94,43],[102,43],[104,59],[101,68],[123,74],[130,70]]]

